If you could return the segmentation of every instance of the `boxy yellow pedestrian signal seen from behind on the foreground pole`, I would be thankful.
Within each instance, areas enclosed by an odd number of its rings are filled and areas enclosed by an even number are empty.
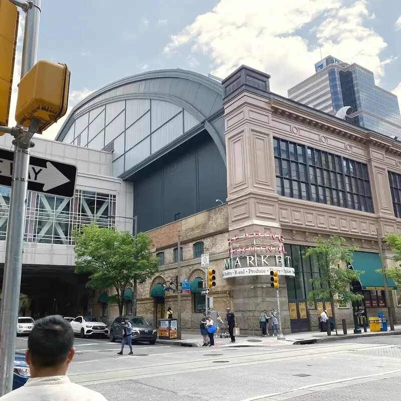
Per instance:
[[[31,119],[37,118],[42,133],[66,114],[69,88],[70,70],[65,64],[38,61],[20,81],[17,123],[29,127]]]

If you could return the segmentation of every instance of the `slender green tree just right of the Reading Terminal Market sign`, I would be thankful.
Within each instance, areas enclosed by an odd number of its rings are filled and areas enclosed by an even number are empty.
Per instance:
[[[363,295],[352,292],[352,282],[359,281],[358,272],[347,267],[340,267],[341,263],[348,265],[352,262],[353,252],[356,247],[344,246],[345,239],[338,236],[331,236],[328,239],[315,238],[316,247],[308,248],[304,257],[313,256],[317,261],[320,276],[313,277],[313,290],[308,294],[309,301],[329,300],[331,305],[338,304],[338,301],[359,302]],[[334,296],[337,294],[336,299]],[[333,317],[335,320],[334,308]]]

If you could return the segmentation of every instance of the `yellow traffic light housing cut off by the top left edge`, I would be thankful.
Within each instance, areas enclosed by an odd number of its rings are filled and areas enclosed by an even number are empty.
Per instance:
[[[9,124],[19,13],[10,0],[0,0],[0,125]],[[4,132],[0,131],[0,135]]]

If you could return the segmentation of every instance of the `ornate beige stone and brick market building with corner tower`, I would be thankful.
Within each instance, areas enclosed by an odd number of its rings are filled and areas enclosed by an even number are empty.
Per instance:
[[[295,278],[280,277],[283,331],[296,332],[316,329],[324,305],[307,303],[315,267],[312,260],[301,257],[302,247],[313,246],[316,236],[340,235],[359,248],[359,260],[370,253],[377,261],[376,228],[380,235],[401,232],[401,146],[396,138],[275,95],[269,79],[268,74],[243,66],[222,83],[227,204],[150,231],[160,272],[139,286],[138,314],[153,322],[167,306],[176,310],[173,292],[163,297],[154,289],[175,278],[178,234],[181,277],[205,278],[195,249],[202,243],[203,251],[210,254],[210,267],[217,272],[217,285],[211,291],[213,309],[224,312],[230,306],[245,332],[258,330],[263,309],[276,308],[276,293],[269,275],[223,278],[228,238],[254,232],[281,234],[295,268]],[[394,263],[388,250],[384,260],[386,267]],[[376,263],[365,272],[377,282],[364,284],[361,278],[368,317],[380,310],[387,314],[382,278],[380,283],[380,275],[374,276],[379,268]],[[181,297],[184,329],[196,329],[202,316],[193,290]],[[400,321],[395,291],[391,294],[392,314]],[[336,307],[336,317],[337,324],[345,318],[351,326],[352,308]]]

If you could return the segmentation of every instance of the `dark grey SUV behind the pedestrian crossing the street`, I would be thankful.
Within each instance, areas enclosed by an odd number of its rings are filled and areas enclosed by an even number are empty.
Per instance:
[[[149,341],[154,344],[157,339],[157,330],[142,316],[116,317],[110,327],[110,341],[122,340],[124,319],[128,318],[132,326],[132,342]]]

